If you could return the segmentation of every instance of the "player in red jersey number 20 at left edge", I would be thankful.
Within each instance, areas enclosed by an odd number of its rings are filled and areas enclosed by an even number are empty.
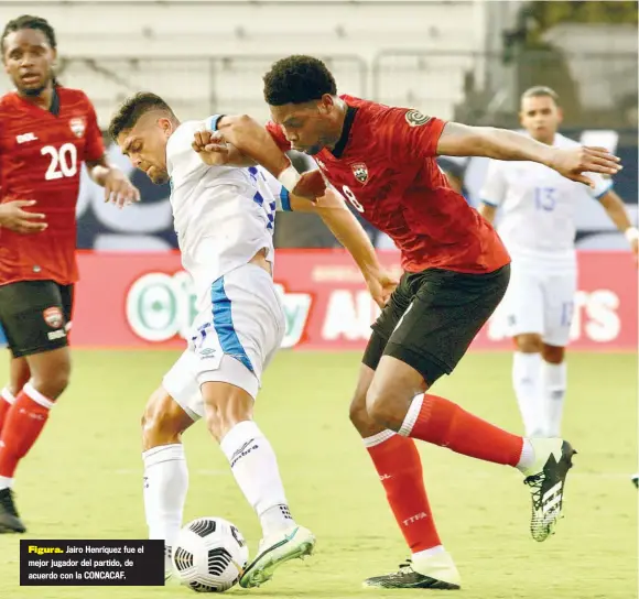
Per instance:
[[[68,384],[67,330],[76,264],[75,209],[83,162],[106,199],[139,199],[105,156],[94,107],[57,85],[55,33],[41,18],[7,23],[0,98],[0,326],[11,350],[0,399],[0,533],[24,532],[12,494],[18,462]]]

